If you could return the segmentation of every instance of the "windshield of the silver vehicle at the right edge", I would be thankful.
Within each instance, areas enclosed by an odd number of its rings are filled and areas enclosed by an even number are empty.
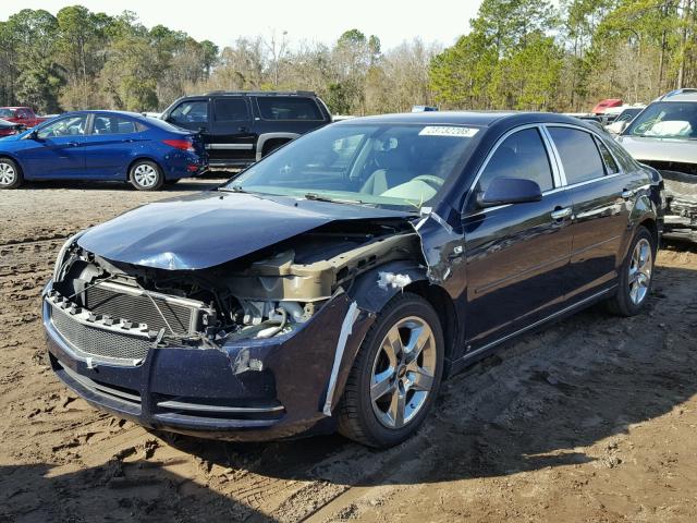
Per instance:
[[[697,102],[651,104],[634,119],[624,134],[657,138],[697,138]]]

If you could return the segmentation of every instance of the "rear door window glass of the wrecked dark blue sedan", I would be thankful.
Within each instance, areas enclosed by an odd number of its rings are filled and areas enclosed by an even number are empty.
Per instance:
[[[562,160],[568,185],[606,175],[602,159],[590,133],[570,127],[548,129]]]

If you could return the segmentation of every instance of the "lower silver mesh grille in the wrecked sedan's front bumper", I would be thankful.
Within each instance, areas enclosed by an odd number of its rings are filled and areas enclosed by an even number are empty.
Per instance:
[[[57,306],[51,307],[51,321],[73,349],[87,355],[112,360],[144,360],[152,344],[147,337],[85,325]]]

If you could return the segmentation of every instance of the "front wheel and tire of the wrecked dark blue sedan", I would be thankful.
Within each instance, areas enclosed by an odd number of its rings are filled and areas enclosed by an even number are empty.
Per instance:
[[[398,295],[360,345],[340,405],[339,431],[377,448],[409,438],[438,396],[443,354],[433,307],[416,294]]]

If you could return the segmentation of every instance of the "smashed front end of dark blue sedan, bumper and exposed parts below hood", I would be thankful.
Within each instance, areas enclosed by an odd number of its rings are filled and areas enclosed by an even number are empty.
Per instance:
[[[344,350],[355,354],[371,323],[355,282],[420,256],[406,219],[333,221],[195,270],[107,259],[72,241],[45,294],[51,364],[88,401],[146,426],[297,434],[331,415]]]

